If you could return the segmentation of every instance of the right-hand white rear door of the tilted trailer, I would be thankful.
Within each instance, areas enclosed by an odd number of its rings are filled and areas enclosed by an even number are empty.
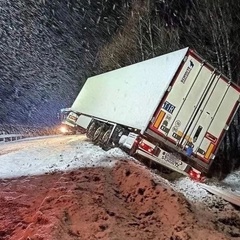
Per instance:
[[[239,92],[218,76],[214,79],[186,133],[192,139],[195,154],[206,163],[214,157],[223,133],[238,106]],[[180,144],[189,142],[182,138]]]

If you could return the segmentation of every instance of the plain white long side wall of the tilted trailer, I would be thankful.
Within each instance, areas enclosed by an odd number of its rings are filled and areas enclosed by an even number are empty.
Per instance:
[[[145,129],[188,48],[90,77],[71,109]]]

